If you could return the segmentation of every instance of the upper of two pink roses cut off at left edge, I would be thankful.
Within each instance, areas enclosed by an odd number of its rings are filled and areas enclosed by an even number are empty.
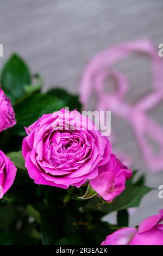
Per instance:
[[[15,113],[11,101],[0,88],[0,132],[15,124]]]

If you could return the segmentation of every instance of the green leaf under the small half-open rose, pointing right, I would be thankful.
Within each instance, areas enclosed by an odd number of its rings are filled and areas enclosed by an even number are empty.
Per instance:
[[[93,198],[87,204],[87,208],[95,211],[101,210],[105,214],[109,214],[113,211],[137,207],[140,205],[143,196],[151,190],[152,188],[146,186],[127,186],[114,202],[110,204],[101,203],[99,199]]]

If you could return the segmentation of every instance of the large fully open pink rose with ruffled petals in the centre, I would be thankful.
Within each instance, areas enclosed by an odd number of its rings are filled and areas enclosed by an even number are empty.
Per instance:
[[[108,139],[76,110],[44,114],[26,132],[22,153],[36,184],[80,187],[110,159]]]

